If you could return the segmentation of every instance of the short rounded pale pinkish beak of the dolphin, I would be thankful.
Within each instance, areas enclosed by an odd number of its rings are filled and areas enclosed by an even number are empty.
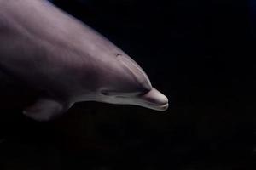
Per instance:
[[[152,88],[147,94],[143,94],[140,99],[144,107],[154,109],[156,111],[166,111],[168,109],[168,99],[157,89]]]

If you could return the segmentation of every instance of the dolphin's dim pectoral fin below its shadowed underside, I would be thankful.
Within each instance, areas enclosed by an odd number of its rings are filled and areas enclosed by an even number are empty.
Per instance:
[[[40,122],[49,121],[61,116],[71,105],[68,102],[61,102],[56,99],[41,98],[26,108],[23,114]]]

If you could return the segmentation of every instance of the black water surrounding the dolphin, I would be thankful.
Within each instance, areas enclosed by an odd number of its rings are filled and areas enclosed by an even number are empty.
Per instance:
[[[37,92],[4,82],[1,170],[256,168],[255,31],[249,2],[54,3],[137,60],[168,96],[170,109],[160,113],[87,102],[54,122],[39,123],[21,115]]]

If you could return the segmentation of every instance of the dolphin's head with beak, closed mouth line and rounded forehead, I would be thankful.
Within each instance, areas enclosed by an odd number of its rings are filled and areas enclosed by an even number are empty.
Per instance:
[[[168,99],[152,87],[148,76],[137,63],[125,54],[117,54],[108,63],[100,78],[94,100],[117,105],[140,105],[156,111],[166,111]]]

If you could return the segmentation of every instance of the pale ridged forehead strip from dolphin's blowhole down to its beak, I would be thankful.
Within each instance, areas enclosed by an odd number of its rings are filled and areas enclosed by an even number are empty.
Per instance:
[[[145,90],[147,92],[151,90],[152,85],[147,74],[133,59],[124,54],[117,54],[117,59],[125,66],[127,71],[131,72],[131,76],[137,81],[143,91]]]

